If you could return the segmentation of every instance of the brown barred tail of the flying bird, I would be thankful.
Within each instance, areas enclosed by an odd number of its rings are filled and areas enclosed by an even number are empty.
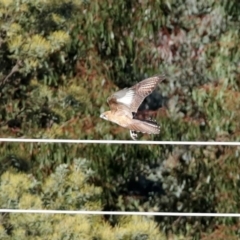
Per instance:
[[[159,134],[160,132],[160,126],[152,120],[132,119],[132,124],[128,128],[132,131],[148,134]]]

